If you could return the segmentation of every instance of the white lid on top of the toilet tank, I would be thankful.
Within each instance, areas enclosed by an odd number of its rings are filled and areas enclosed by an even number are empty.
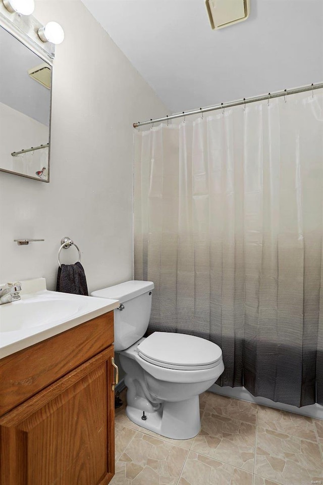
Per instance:
[[[98,289],[96,292],[92,292],[91,296],[110,298],[111,300],[119,300],[120,303],[124,303],[132,298],[139,297],[143,293],[150,292],[153,288],[154,284],[152,281],[125,281],[114,286]]]

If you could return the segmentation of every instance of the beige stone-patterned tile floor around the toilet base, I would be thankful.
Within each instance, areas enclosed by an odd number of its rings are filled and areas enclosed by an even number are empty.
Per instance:
[[[323,421],[206,392],[200,433],[170,440],[132,423],[121,398],[111,485],[323,485]]]

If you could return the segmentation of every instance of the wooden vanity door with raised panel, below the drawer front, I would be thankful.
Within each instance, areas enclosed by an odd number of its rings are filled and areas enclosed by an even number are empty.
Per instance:
[[[113,346],[0,419],[1,485],[105,485],[114,475]]]

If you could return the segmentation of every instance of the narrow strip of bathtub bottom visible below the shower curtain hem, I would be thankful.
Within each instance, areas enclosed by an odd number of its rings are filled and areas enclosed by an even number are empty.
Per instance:
[[[252,396],[245,387],[221,387],[218,384],[211,385],[208,391],[214,394],[221,394],[222,396],[240,399],[241,401],[260,404],[261,406],[268,406],[290,413],[302,414],[303,416],[309,416],[314,419],[323,419],[323,406],[320,406],[317,403],[298,408],[297,406],[291,406],[290,404],[275,403],[275,401],[272,401],[271,399]]]

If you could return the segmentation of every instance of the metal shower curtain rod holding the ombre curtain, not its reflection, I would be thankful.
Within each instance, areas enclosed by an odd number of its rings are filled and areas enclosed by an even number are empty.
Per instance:
[[[262,96],[255,96],[254,98],[244,98],[243,100],[239,101],[232,101],[231,103],[221,103],[220,105],[209,106],[207,108],[199,108],[198,110],[193,111],[186,111],[182,113],[177,113],[175,115],[165,116],[164,118],[157,118],[155,120],[150,119],[149,121],[138,121],[138,123],[134,123],[133,127],[137,128],[138,126],[149,125],[152,123],[159,123],[160,121],[168,121],[173,120],[175,118],[181,118],[190,115],[197,115],[199,113],[207,113],[208,111],[216,111],[225,108],[231,108],[232,106],[239,106],[239,105],[247,105],[248,103],[255,103],[256,101],[264,101],[268,100],[268,102],[273,98],[280,98],[281,96],[288,96],[289,94],[296,94],[297,92],[304,92],[304,91],[312,91],[314,89],[323,88],[323,82],[310,84],[309,86],[302,86],[297,87],[294,89],[284,89],[284,91],[277,91],[268,94],[263,94]]]

